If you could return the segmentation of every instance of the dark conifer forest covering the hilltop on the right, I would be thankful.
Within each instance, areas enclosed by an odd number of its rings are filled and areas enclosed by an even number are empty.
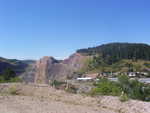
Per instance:
[[[84,55],[101,55],[113,61],[121,59],[150,60],[150,46],[141,43],[109,43],[101,46],[80,49]]]

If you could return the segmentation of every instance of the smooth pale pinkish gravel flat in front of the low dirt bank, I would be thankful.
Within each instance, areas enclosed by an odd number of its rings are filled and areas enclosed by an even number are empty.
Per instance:
[[[112,113],[105,109],[27,96],[0,97],[0,113]]]

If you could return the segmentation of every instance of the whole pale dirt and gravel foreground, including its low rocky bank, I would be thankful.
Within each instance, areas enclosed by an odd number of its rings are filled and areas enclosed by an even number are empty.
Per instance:
[[[88,97],[48,85],[1,84],[0,113],[150,113],[150,103]],[[12,96],[13,95],[13,96]]]

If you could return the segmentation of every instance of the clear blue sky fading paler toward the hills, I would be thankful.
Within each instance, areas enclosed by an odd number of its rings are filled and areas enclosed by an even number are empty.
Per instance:
[[[65,58],[109,42],[150,44],[150,0],[0,0],[0,56]]]

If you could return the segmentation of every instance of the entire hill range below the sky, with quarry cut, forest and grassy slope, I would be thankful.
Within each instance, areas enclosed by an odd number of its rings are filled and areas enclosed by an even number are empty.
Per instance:
[[[0,59],[0,72],[12,68],[25,81],[48,83],[48,80],[72,78],[76,72],[148,71],[150,46],[137,43],[110,43],[80,49],[65,60],[43,57],[39,61]]]

